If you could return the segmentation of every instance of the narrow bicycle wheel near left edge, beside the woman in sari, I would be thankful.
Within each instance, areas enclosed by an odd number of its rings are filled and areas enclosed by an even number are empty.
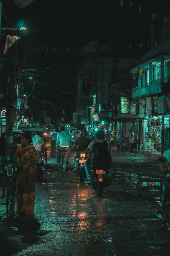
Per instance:
[[[7,219],[10,220],[13,217],[15,211],[15,192],[13,189],[12,183],[8,183],[7,186],[7,198],[6,198],[6,210],[7,210]]]

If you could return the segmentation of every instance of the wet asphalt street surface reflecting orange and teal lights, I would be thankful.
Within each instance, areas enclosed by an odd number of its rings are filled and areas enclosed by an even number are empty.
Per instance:
[[[113,182],[97,198],[71,172],[71,159],[66,173],[49,159],[47,182],[36,182],[35,218],[8,223],[0,205],[10,255],[170,255],[166,230],[154,215],[162,207],[164,178],[157,160],[114,154]]]

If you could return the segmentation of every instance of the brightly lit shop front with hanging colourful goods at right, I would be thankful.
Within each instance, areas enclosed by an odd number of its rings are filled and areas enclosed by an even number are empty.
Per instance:
[[[147,153],[160,154],[169,149],[170,116],[154,116],[143,119],[143,150]],[[162,132],[164,131],[164,136]],[[163,140],[163,141],[161,141]]]

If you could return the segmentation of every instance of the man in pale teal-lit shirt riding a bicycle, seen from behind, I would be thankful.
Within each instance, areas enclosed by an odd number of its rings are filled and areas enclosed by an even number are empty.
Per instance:
[[[58,146],[57,147],[57,164],[60,163],[61,151],[63,150],[63,147],[67,147],[67,151],[68,151],[67,159],[69,158],[69,152],[70,152],[69,144],[70,144],[69,135],[67,132],[65,132],[65,127],[61,127],[61,132],[58,133],[57,135],[57,146]],[[67,164],[69,164],[69,162],[67,162]]]

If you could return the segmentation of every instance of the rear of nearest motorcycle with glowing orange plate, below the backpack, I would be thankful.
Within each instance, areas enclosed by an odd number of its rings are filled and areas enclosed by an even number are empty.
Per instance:
[[[109,176],[110,170],[92,169],[92,188],[96,191],[97,196],[101,197],[104,187],[108,187],[112,179]]]

